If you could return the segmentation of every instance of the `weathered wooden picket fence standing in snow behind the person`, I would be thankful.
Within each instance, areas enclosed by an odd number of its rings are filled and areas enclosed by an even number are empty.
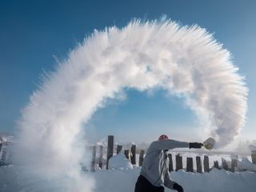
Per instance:
[[[92,161],[91,161],[91,167],[90,170],[94,171],[96,166],[96,146],[92,146]],[[118,154],[122,150],[122,146],[118,145],[116,148],[116,153]],[[107,150],[106,150],[106,169],[108,169],[108,162],[111,157],[113,157],[114,154],[114,136],[109,135],[107,140]],[[132,165],[136,165],[136,145],[132,145],[130,150],[124,150],[124,154],[126,155],[126,158],[128,158]],[[138,166],[142,166],[142,162],[144,159],[145,150],[140,150],[139,153],[139,159],[138,159]],[[186,158],[186,169],[183,166],[183,160],[182,156],[180,154],[175,154],[175,169],[174,169],[174,163],[173,163],[173,154],[168,154],[168,157],[170,159],[169,164],[169,170],[186,170],[187,172],[210,172],[212,169],[209,164],[209,157],[207,155],[204,155],[203,158],[201,156],[196,156],[195,158],[195,165],[196,168],[194,169],[194,163],[193,158],[187,157]],[[252,162],[256,164],[256,151],[253,151],[251,154]],[[98,157],[98,166],[102,169],[103,168],[103,146],[99,146],[99,157]],[[222,158],[222,166],[218,165],[218,161],[214,161],[214,168],[217,169],[224,169],[229,170],[231,172],[239,171],[238,170],[238,162],[237,159],[231,159],[231,167],[228,166],[227,161]],[[203,170],[202,170],[203,168]]]

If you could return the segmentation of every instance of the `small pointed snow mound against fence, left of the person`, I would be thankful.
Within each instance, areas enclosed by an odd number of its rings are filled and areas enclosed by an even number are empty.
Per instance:
[[[133,165],[126,158],[123,150],[121,150],[117,155],[110,158],[109,169],[133,169]]]

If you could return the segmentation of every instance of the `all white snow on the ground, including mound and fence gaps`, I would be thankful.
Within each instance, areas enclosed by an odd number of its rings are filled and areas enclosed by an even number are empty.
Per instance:
[[[174,156],[181,154],[183,157],[183,167],[186,166],[186,157],[194,159],[200,156],[203,158],[204,154],[197,154],[194,152],[175,152],[173,154],[173,162],[175,167]],[[209,155],[209,154],[208,154]],[[234,155],[232,155],[234,156]],[[213,166],[214,161],[218,160],[221,166],[221,158],[230,161],[230,155],[213,154],[209,155],[210,166]],[[186,192],[253,192],[256,189],[256,165],[249,160],[250,157],[238,157],[238,167],[246,169],[244,172],[231,173],[226,170],[213,169],[210,173],[187,173],[184,170],[171,172],[171,178],[180,183]],[[138,156],[137,156],[138,160]],[[137,162],[138,163],[138,162]],[[134,191],[134,185],[138,178],[140,167],[132,166],[126,159],[125,155],[120,153],[113,158],[110,158],[110,170],[100,170],[96,168],[95,172],[85,171],[84,179],[94,178],[94,190],[90,191],[86,188],[80,191],[85,192],[131,192]],[[83,178],[83,177],[82,177]],[[35,176],[26,171],[26,167],[7,165],[0,166],[0,192],[77,192],[70,191],[66,188],[67,182],[70,178],[43,178],[42,176]],[[166,189],[166,191],[170,191]]]

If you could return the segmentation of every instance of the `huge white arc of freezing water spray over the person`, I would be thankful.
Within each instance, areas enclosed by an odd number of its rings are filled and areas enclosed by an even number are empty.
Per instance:
[[[18,123],[18,147],[26,154],[20,161],[47,177],[72,178],[67,190],[91,191],[79,166],[90,158],[79,138],[82,123],[125,88],[182,95],[207,120],[206,137],[226,146],[245,122],[247,89],[237,72],[229,51],[196,25],[134,20],[95,30],[31,95]]]

